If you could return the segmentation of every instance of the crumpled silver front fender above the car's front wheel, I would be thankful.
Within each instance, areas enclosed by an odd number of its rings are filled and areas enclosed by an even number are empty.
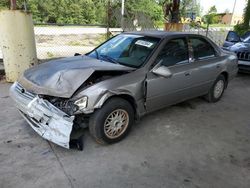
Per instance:
[[[96,83],[91,87],[79,89],[72,100],[77,100],[81,96],[88,96],[88,106],[77,113],[91,114],[95,109],[101,108],[112,96],[127,96],[133,99],[138,107],[139,114],[145,114],[143,97],[145,88],[143,87],[145,80],[145,70],[138,69],[128,74],[122,74],[118,77],[113,77],[102,82]]]

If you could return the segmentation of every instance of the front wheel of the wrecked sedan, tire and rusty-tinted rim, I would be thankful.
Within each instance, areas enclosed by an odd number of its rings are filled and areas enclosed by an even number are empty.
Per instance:
[[[125,138],[133,124],[131,104],[121,98],[111,98],[90,117],[89,131],[98,143],[112,144]]]

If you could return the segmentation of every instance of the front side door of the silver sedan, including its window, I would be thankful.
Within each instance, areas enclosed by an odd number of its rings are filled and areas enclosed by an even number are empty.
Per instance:
[[[147,74],[146,108],[148,112],[184,101],[190,98],[192,87],[192,63],[189,62],[189,50],[186,38],[168,41],[159,53],[156,64],[169,69],[168,78]]]

